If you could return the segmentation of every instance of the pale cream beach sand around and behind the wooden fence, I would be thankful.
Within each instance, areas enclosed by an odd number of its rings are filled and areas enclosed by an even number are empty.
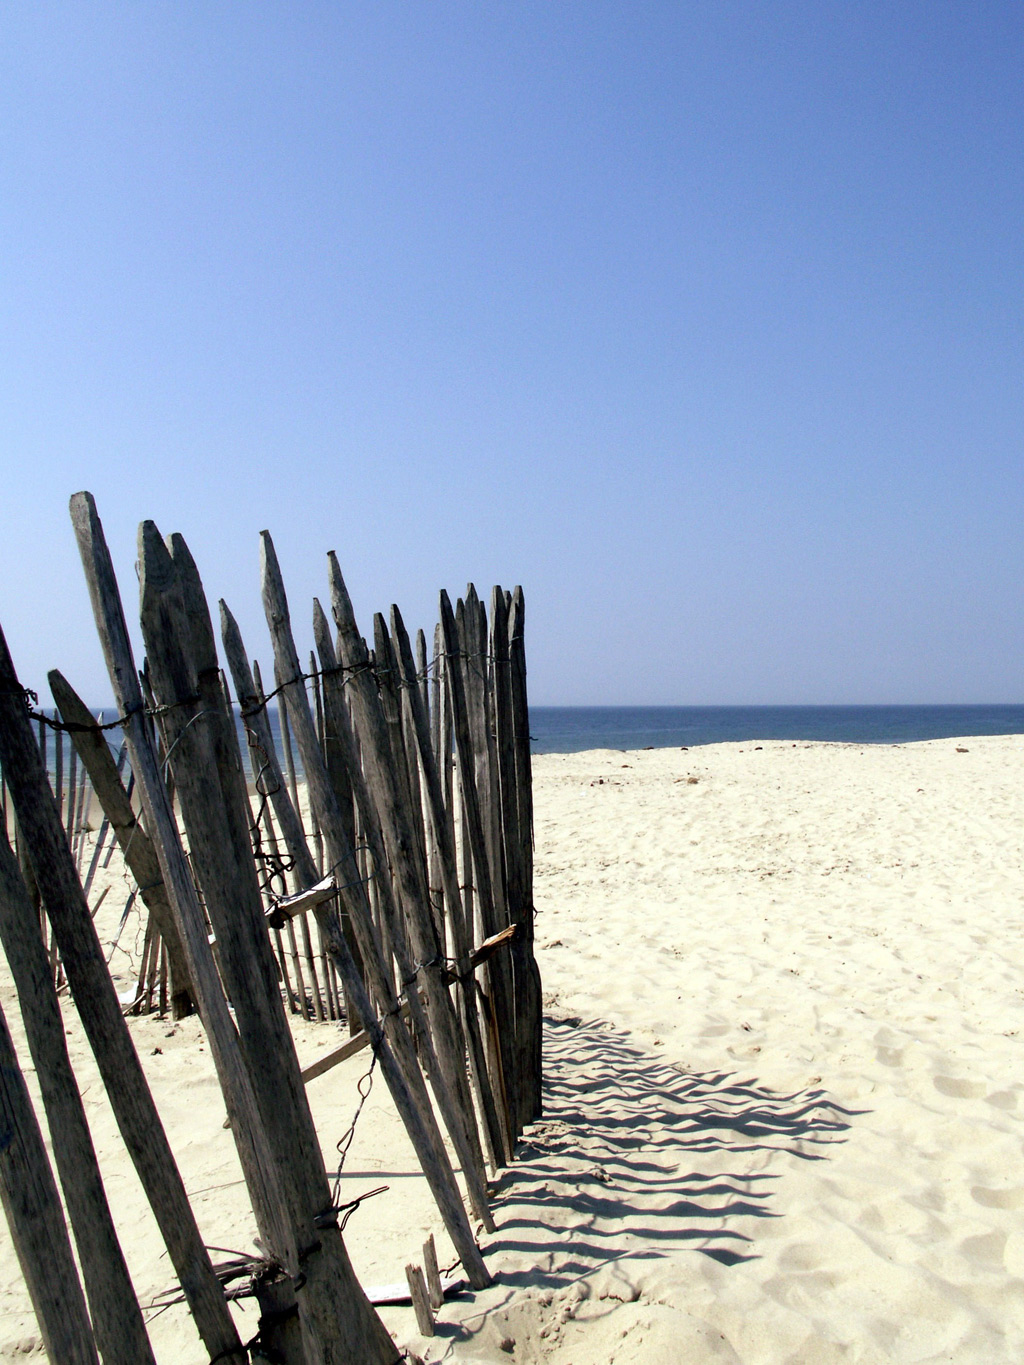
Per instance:
[[[399,1343],[549,1365],[1024,1357],[1023,760],[1024,737],[537,759],[546,1114],[497,1181],[494,1287],[429,1340],[385,1309]],[[123,882],[108,901],[106,934]],[[3,1003],[20,1037],[5,981]],[[67,1026],[147,1301],[169,1268]],[[250,1248],[198,1024],[131,1028],[208,1241]],[[296,1037],[304,1063],[337,1032]],[[310,1084],[326,1153],[365,1069]],[[363,1283],[400,1280],[430,1231],[451,1260],[380,1081],[343,1178],[345,1198],[378,1185],[345,1233]],[[161,1365],[206,1360],[180,1308],[152,1334]],[[35,1336],[4,1228],[0,1357]]]

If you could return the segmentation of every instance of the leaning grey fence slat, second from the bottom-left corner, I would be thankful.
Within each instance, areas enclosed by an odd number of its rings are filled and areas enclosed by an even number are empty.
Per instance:
[[[0,940],[18,990],[104,1365],[153,1365],[142,1309],[113,1228],[71,1070],[40,921],[4,830],[0,830]]]

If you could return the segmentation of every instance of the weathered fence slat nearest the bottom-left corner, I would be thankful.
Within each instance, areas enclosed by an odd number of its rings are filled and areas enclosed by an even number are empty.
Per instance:
[[[60,1196],[3,1010],[0,1137],[0,1201],[46,1354],[53,1365],[98,1365]]]

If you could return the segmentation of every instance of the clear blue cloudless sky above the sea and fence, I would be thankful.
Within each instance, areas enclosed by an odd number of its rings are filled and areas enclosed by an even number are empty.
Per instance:
[[[109,698],[182,531],[266,659],[522,581],[535,703],[1024,700],[1021,0],[22,0],[0,622]]]

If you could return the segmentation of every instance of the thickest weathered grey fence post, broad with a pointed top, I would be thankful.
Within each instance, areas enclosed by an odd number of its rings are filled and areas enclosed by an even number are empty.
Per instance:
[[[173,556],[152,521],[139,528],[141,624],[182,818],[239,1043],[285,1200],[289,1237],[279,1253],[304,1276],[298,1295],[306,1351],[325,1365],[389,1362],[390,1339],[352,1271],[335,1219],[319,1141],[277,990],[217,651],[198,571],[175,536]],[[296,958],[298,960],[298,958]]]

